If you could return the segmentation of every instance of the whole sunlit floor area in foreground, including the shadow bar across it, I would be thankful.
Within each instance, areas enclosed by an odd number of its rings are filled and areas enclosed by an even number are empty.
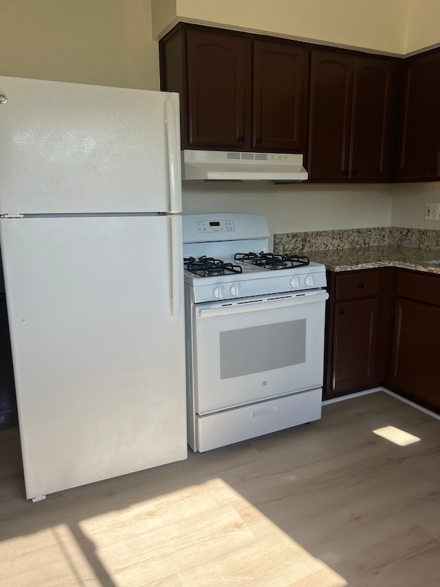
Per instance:
[[[219,478],[5,538],[0,559],[10,586],[347,586]]]

